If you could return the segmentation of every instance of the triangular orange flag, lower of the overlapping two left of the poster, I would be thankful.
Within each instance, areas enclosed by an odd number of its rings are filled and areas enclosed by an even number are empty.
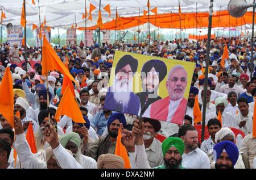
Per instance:
[[[72,108],[71,108],[72,107]],[[61,115],[66,115],[76,123],[85,123],[80,108],[71,92],[71,88],[68,86],[61,98],[60,104],[55,114],[55,119],[59,121]]]

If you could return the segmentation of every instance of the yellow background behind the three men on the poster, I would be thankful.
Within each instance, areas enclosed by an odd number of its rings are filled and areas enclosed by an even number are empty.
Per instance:
[[[115,51],[115,56],[114,56],[114,61],[113,61],[113,66],[111,70],[111,75],[110,75],[110,82],[109,82],[109,87],[112,86],[112,83],[114,81],[115,77],[115,67],[117,66],[117,62],[120,60],[121,57],[125,55],[131,55],[135,59],[138,60],[138,68],[137,68],[137,73],[134,76],[133,79],[133,91],[134,93],[139,93],[142,91],[142,82],[141,82],[141,70],[145,62],[149,60],[160,60],[163,61],[166,66],[167,66],[167,74],[166,77],[164,77],[163,81],[160,82],[159,89],[158,89],[158,95],[163,99],[166,98],[169,94],[166,89],[166,81],[168,78],[168,73],[170,70],[175,66],[175,65],[181,65],[187,72],[187,87],[184,93],[184,98],[188,99],[189,95],[189,90],[191,86],[191,81],[193,77],[193,72],[195,69],[196,64],[194,62],[188,62],[188,61],[181,61],[181,60],[172,60],[169,58],[161,58],[161,57],[156,57],[156,56],[147,56],[147,55],[138,55],[135,53],[129,53],[129,52],[122,52],[122,51]]]

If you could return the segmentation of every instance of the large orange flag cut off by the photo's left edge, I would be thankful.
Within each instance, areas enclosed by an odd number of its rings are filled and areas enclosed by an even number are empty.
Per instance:
[[[14,128],[13,78],[10,68],[6,68],[0,85],[0,113]]]

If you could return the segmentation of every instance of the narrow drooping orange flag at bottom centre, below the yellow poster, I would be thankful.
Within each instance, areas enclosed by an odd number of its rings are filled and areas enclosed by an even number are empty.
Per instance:
[[[128,157],[125,146],[121,143],[121,130],[118,130],[117,144],[115,145],[115,155],[120,156],[125,161],[125,169],[131,169],[130,158]]]

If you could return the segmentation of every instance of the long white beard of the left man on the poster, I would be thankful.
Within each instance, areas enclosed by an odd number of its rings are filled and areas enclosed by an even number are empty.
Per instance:
[[[133,80],[128,81],[126,79],[122,79],[117,81],[117,79],[115,79],[113,87],[115,101],[122,102],[123,107],[127,106],[130,101],[130,92],[133,89]]]

